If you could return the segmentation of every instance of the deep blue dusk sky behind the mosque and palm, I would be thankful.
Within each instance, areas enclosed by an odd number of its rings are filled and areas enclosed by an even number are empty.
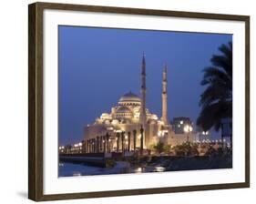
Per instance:
[[[202,69],[231,35],[59,26],[59,144],[80,141],[83,127],[132,91],[139,95],[142,53],[147,107],[161,117],[161,77],[168,65],[169,119],[199,115]]]

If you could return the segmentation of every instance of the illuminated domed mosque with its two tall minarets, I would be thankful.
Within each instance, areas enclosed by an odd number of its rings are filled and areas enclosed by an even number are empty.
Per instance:
[[[187,140],[193,140],[192,131],[175,133],[168,118],[168,80],[167,66],[162,73],[162,116],[159,118],[146,107],[146,59],[143,54],[140,74],[140,96],[128,92],[120,97],[116,107],[110,113],[102,113],[94,124],[84,128],[84,141],[87,152],[148,149],[159,141],[175,146]],[[180,124],[183,121],[180,121]],[[192,127],[189,126],[189,130]],[[108,144],[106,144],[108,143]],[[97,146],[97,147],[95,147]],[[97,151],[96,151],[97,149]]]

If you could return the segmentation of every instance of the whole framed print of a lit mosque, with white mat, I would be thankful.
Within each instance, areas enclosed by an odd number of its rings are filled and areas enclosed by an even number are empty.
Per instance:
[[[29,5],[29,199],[250,186],[250,17]]]

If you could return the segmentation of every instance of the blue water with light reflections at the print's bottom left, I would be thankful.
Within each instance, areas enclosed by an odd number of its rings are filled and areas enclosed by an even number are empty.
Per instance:
[[[131,168],[128,162],[119,161],[114,168],[97,168],[82,164],[60,162],[58,165],[59,177],[77,177],[89,175],[109,175],[124,173],[162,172],[162,167],[134,167]]]

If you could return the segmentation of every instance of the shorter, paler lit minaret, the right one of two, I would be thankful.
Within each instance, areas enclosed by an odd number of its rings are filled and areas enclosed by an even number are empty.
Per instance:
[[[167,114],[167,65],[164,66],[162,79],[162,121],[164,125],[169,124]]]

